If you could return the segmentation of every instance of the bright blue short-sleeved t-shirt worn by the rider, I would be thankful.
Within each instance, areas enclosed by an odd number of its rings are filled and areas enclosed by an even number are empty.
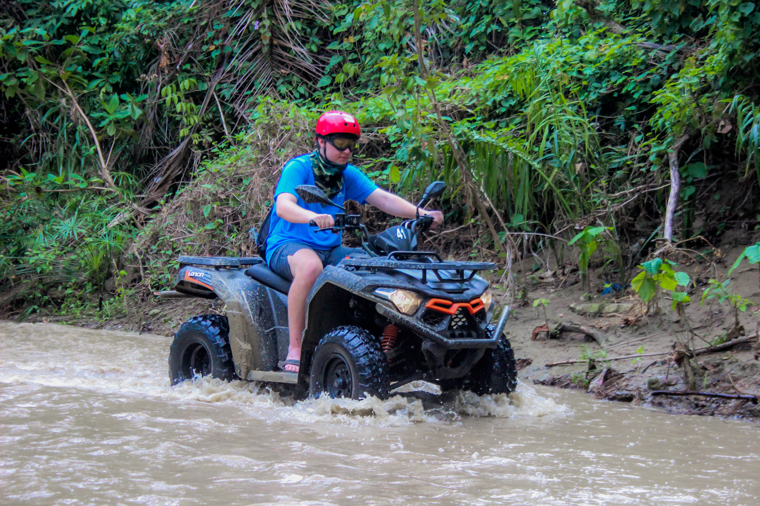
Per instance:
[[[301,197],[296,193],[296,187],[299,184],[314,184],[314,171],[312,171],[312,162],[309,159],[309,154],[291,159],[285,164],[283,172],[280,175],[280,182],[277,183],[277,189],[274,190],[274,212],[272,212],[269,236],[267,237],[267,263],[269,263],[274,250],[277,250],[283,244],[293,241],[307,244],[315,250],[331,250],[342,243],[342,233],[333,234],[331,231],[315,232],[316,228],[310,227],[308,223],[291,223],[277,216],[277,196],[280,193],[290,193],[296,196],[296,203],[299,206],[321,215],[335,215],[337,212],[340,212],[337,207],[307,204],[301,200]],[[343,171],[343,188],[340,189],[340,193],[332,198],[332,201],[338,206],[343,206],[346,200],[356,200],[356,202],[363,204],[366,202],[369,194],[377,190],[377,188],[377,185],[369,181],[369,178],[359,168],[347,165]]]

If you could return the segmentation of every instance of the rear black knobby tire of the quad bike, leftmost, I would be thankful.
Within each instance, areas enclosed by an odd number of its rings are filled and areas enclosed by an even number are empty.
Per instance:
[[[230,350],[230,324],[226,316],[193,316],[174,335],[169,347],[172,385],[196,376],[236,378]]]

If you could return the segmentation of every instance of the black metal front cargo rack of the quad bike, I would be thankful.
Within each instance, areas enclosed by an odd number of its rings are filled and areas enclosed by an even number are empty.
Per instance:
[[[436,278],[442,283],[448,281],[470,281],[478,271],[490,271],[496,269],[496,264],[492,262],[443,262],[439,259],[438,262],[429,260],[422,262],[420,259],[415,261],[414,259],[404,260],[397,259],[400,255],[398,253],[407,253],[397,251],[388,255],[387,259],[363,259],[352,258],[344,259],[340,262],[342,266],[353,267],[356,270],[368,270],[376,272],[377,269],[413,269],[423,272],[421,281],[427,283],[427,272],[432,271]],[[423,256],[423,259],[430,259],[429,253],[417,253],[416,251],[408,252],[409,256]],[[435,255],[438,256],[438,255]],[[456,272],[456,277],[443,278],[439,271]],[[469,272],[468,275],[465,273]]]

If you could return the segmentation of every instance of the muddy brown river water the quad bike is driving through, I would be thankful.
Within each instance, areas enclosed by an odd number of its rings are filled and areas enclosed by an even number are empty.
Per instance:
[[[169,338],[0,322],[0,504],[758,504],[751,423],[552,388],[170,387]]]

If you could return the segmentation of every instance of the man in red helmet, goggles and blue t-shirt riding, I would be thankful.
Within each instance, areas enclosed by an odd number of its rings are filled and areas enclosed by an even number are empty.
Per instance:
[[[342,231],[315,231],[334,227],[334,206],[309,204],[296,193],[303,184],[320,188],[337,206],[346,200],[370,203],[372,206],[401,218],[415,218],[417,208],[400,196],[388,193],[372,183],[349,160],[361,136],[359,122],[346,112],[330,111],[317,121],[317,149],[291,159],[285,164],[274,191],[274,213],[266,234],[265,257],[269,268],[293,280],[288,291],[288,328],[290,345],[286,371],[298,372],[301,338],[306,325],[306,297],[325,266],[336,266],[340,260],[366,256],[359,248],[341,246]],[[443,221],[440,211],[419,210],[433,218],[433,227]],[[312,225],[313,226],[313,225]]]

